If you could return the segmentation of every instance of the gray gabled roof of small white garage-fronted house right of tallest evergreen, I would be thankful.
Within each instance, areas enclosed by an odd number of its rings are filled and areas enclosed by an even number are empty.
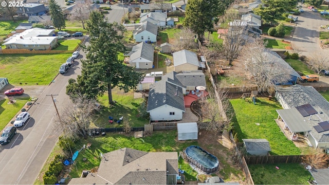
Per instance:
[[[152,44],[141,42],[133,46],[132,54],[130,55],[130,60],[135,60],[138,58],[144,58],[153,62],[154,57],[154,47]]]

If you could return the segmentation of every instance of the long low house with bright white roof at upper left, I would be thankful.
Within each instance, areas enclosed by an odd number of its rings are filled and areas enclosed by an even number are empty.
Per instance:
[[[51,50],[57,45],[54,29],[31,28],[6,39],[6,49]]]

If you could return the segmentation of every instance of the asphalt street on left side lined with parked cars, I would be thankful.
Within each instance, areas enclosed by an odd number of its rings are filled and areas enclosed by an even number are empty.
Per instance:
[[[80,59],[64,75],[58,75],[39,96],[39,99],[28,110],[31,118],[24,127],[17,128],[17,134],[7,145],[0,147],[0,184],[33,184],[54,144],[59,132],[54,125],[56,110],[50,96],[54,96],[60,110],[70,102],[65,94],[68,79],[76,79],[81,74]]]

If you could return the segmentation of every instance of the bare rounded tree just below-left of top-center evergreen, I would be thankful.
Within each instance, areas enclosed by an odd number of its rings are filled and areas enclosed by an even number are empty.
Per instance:
[[[182,49],[197,49],[198,45],[195,43],[195,35],[196,34],[189,28],[181,29],[181,31],[175,34],[173,50],[179,51]]]

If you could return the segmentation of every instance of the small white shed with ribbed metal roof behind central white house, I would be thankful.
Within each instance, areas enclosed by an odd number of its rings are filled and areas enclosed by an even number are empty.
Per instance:
[[[197,139],[197,124],[192,123],[177,123],[178,140]]]

